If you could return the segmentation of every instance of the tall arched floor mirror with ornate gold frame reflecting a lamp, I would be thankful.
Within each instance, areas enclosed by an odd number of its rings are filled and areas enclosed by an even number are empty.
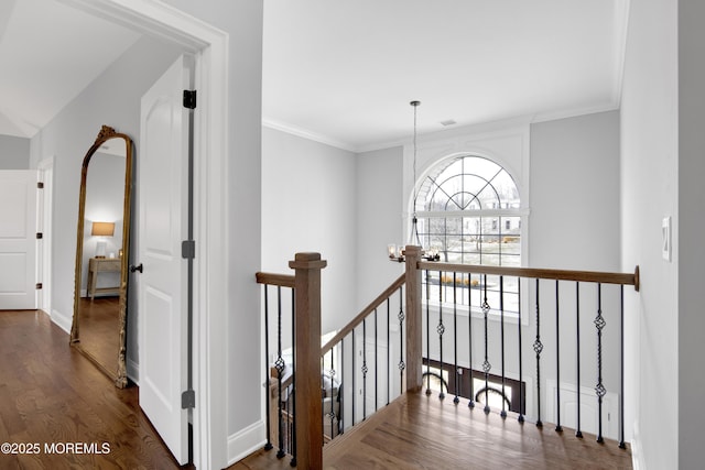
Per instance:
[[[132,140],[104,125],[80,172],[70,343],[127,386]]]

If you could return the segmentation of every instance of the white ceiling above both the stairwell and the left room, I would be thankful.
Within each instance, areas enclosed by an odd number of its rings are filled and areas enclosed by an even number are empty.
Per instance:
[[[264,124],[341,149],[616,109],[628,0],[264,0]],[[0,133],[32,136],[139,35],[0,2]]]

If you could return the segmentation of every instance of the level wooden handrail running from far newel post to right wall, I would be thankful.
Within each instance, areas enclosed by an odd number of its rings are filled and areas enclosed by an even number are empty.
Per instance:
[[[420,261],[420,270],[448,271],[456,273],[495,274],[505,276],[546,278],[558,281],[595,282],[603,284],[633,285],[639,291],[639,266],[633,274],[606,273],[599,271],[545,270],[536,267],[486,266],[478,264],[455,264],[440,261]]]

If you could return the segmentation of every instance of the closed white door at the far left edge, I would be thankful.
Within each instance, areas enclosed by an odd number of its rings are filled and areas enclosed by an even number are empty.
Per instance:
[[[36,308],[36,171],[0,172],[0,310]]]

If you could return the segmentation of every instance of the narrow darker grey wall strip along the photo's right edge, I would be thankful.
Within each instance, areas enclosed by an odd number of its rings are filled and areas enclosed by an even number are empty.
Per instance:
[[[705,266],[705,3],[679,2],[679,467],[697,468],[705,449],[703,266]]]

